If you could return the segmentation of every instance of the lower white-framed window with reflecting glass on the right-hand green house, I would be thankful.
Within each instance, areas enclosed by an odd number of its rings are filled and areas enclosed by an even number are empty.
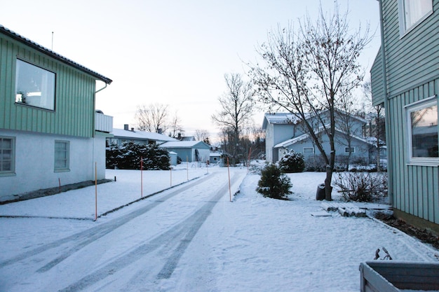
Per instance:
[[[436,97],[407,106],[410,162],[439,162]]]

